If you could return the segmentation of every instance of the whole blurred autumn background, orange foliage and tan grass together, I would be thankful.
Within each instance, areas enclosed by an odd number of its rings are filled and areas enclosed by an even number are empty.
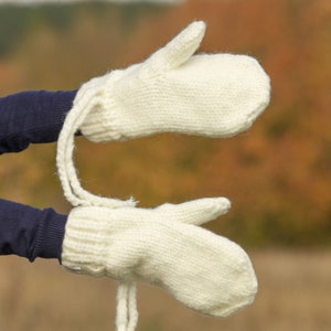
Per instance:
[[[140,286],[138,331],[330,330],[331,2],[8,2],[0,1],[0,96],[78,88],[143,61],[196,19],[207,22],[200,52],[248,54],[261,63],[273,98],[249,131],[231,139],[160,135],[106,145],[81,137],[76,166],[84,188],[132,195],[140,206],[232,200],[228,215],[206,226],[249,253],[259,280],[255,303],[213,319]],[[2,156],[1,197],[68,213],[55,148]],[[1,330],[114,329],[111,280],[71,275],[54,260],[1,257],[0,268]]]

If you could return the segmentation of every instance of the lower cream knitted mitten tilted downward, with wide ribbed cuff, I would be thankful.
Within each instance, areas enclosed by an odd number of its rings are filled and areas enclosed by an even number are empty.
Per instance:
[[[197,226],[228,209],[225,197],[153,210],[78,206],[68,216],[62,263],[76,273],[152,284],[192,309],[225,317],[257,291],[246,253]]]

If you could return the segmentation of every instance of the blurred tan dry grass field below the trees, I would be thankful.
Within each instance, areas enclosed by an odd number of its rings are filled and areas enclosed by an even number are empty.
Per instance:
[[[159,289],[138,288],[138,331],[331,330],[331,252],[250,254],[259,292],[227,319],[195,313]],[[116,284],[66,273],[54,260],[0,261],[0,330],[114,330]]]

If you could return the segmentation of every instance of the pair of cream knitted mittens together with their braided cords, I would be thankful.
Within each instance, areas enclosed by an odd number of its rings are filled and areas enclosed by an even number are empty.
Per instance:
[[[135,330],[136,281],[216,317],[243,309],[257,291],[243,248],[200,227],[228,211],[227,199],[139,209],[132,200],[84,190],[73,161],[77,129],[98,142],[163,131],[228,137],[250,127],[269,102],[269,78],[248,56],[193,55],[204,32],[205,24],[194,22],[143,63],[84,84],[58,138],[58,177],[74,206],[62,263],[74,273],[119,281],[118,331]]]

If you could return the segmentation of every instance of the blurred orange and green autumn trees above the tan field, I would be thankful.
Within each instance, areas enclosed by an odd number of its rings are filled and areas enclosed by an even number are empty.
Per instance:
[[[201,52],[257,57],[271,77],[269,108],[248,132],[231,139],[161,135],[96,146],[79,138],[84,186],[134,195],[142,206],[224,195],[233,209],[210,226],[244,245],[330,245],[329,0],[0,7],[0,17],[8,15],[17,32],[3,33],[9,23],[0,20],[1,95],[77,88],[142,61],[192,20],[205,20]],[[67,212],[54,153],[51,145],[2,156],[1,195]]]

